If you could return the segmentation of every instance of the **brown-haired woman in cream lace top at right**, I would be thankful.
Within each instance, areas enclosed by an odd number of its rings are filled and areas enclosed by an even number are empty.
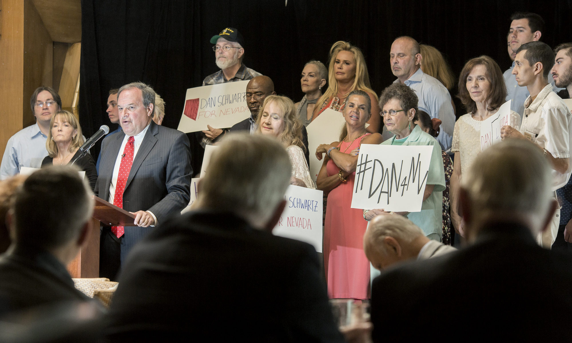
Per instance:
[[[455,230],[464,236],[463,221],[459,216],[459,182],[480,153],[480,125],[494,115],[506,99],[505,80],[494,59],[482,55],[470,59],[459,76],[459,99],[468,110],[455,123],[451,152],[455,153],[451,176],[451,221]],[[511,111],[508,125],[518,128],[521,117]]]

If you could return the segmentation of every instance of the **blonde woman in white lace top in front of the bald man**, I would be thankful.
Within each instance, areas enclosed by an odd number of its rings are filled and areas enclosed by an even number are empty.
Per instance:
[[[284,144],[292,163],[292,185],[315,189],[304,157],[302,127],[291,99],[280,95],[268,95],[264,99],[256,118],[256,131],[273,135]]]

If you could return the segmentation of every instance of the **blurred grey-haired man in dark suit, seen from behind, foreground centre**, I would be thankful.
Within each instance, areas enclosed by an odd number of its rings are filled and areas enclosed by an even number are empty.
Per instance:
[[[110,340],[342,342],[316,251],[272,235],[291,176],[284,147],[231,134],[209,170],[193,210],[162,224],[126,262]]]

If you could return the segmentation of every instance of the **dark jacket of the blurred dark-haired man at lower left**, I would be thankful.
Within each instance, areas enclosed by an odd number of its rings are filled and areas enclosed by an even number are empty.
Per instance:
[[[0,256],[0,317],[39,305],[89,300],[50,253],[18,247]]]

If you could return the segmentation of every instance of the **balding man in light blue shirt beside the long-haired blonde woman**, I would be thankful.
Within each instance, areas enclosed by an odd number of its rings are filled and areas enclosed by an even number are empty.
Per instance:
[[[451,95],[438,79],[423,73],[421,70],[421,54],[419,43],[407,36],[398,37],[391,45],[391,71],[398,77],[394,81],[405,83],[411,87],[419,98],[419,110],[426,111],[431,118],[441,120],[441,131],[436,139],[443,150],[451,150],[453,129],[455,128],[455,111],[451,104]],[[392,137],[386,133],[383,138]]]

